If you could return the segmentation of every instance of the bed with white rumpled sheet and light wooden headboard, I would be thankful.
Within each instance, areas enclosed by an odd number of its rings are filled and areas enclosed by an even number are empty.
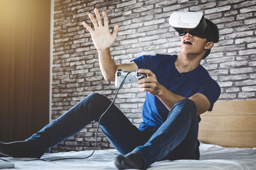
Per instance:
[[[199,125],[200,160],[164,160],[148,170],[165,169],[256,169],[256,100],[218,101],[204,113]],[[85,157],[92,151],[45,153],[45,160]],[[116,150],[97,150],[89,159],[54,162],[3,158],[17,169],[116,169]],[[2,160],[0,160],[2,161]]]

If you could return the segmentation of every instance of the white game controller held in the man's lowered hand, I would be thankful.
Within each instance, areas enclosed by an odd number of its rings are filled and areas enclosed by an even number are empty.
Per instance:
[[[138,70],[137,71],[122,71],[122,69],[117,69],[116,78],[115,78],[115,87],[116,88],[120,87],[120,85],[121,85],[122,81],[124,80],[126,74],[128,74],[128,75],[127,75],[124,83],[130,83],[130,82],[136,83],[141,78],[146,78],[147,77],[146,74],[139,73]]]

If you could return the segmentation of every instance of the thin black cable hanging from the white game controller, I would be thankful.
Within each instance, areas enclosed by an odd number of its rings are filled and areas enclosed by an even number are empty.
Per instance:
[[[100,120],[103,117],[103,115],[105,115],[105,113],[109,110],[109,108],[112,106],[112,104],[115,102],[115,99],[116,99],[116,96],[118,94],[118,91],[124,85],[124,81],[125,81],[126,77],[128,76],[128,74],[130,74],[130,73],[131,73],[131,71],[129,71],[125,75],[124,80],[122,81],[122,83],[120,84],[118,89],[116,90],[116,94],[115,94],[115,97],[114,97],[113,101],[111,102],[111,104],[109,104],[109,106],[106,109],[106,111],[104,111],[104,113],[99,118],[99,122],[98,122],[97,129],[96,129],[96,134],[95,134],[95,146],[94,146],[94,149],[93,149],[93,152],[91,153],[91,155],[89,155],[88,157],[72,157],[72,158],[70,157],[70,158],[61,158],[61,159],[54,159],[54,160],[46,160],[46,159],[32,159],[32,160],[44,160],[44,161],[47,161],[47,162],[52,162],[52,161],[56,161],[56,160],[65,160],[65,159],[88,159],[89,157],[91,157],[93,155],[93,153],[95,152],[96,148],[97,148],[97,135],[98,135],[98,129],[99,129],[99,125],[100,125]],[[25,160],[25,161],[32,161],[32,160]],[[8,161],[8,160],[5,160],[5,161]]]

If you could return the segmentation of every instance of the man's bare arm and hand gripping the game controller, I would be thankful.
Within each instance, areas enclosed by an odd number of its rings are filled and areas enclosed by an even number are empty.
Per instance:
[[[171,110],[175,103],[186,98],[174,94],[170,90],[166,89],[163,85],[159,84],[156,75],[149,69],[139,69],[139,72],[147,74],[147,78],[138,80],[140,90],[144,92],[147,91],[149,94],[157,96],[158,99],[164,104],[164,106],[168,108],[168,110]],[[196,115],[204,113],[211,107],[211,103],[203,94],[196,93],[189,97],[189,99],[194,101],[196,105]]]

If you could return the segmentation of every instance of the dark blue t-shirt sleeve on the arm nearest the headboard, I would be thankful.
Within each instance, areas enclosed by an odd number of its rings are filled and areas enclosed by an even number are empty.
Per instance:
[[[211,103],[211,107],[208,111],[212,111],[213,104],[220,97],[221,90],[216,81],[212,80],[212,78],[207,78],[206,80],[201,81],[198,93],[204,94],[204,96],[207,97]]]

